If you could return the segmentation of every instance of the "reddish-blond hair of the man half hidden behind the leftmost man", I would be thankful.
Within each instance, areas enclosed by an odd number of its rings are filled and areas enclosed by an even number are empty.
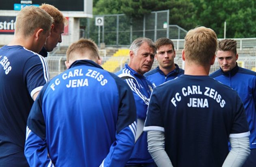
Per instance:
[[[64,23],[64,25],[66,26],[68,24],[66,17],[63,16],[63,14],[60,12],[60,10],[58,10],[58,8],[50,4],[42,4],[39,7],[45,10],[49,15],[53,17],[54,25]]]

